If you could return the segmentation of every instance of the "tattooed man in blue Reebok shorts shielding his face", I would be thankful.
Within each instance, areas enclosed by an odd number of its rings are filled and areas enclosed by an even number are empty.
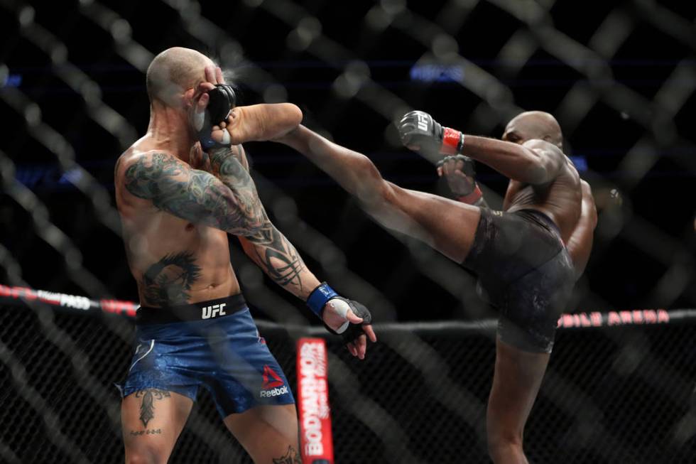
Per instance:
[[[293,394],[241,296],[227,234],[364,357],[366,336],[375,340],[369,312],[320,284],[268,220],[241,146],[281,136],[302,113],[293,104],[234,107],[220,69],[186,48],[153,59],[147,90],[148,131],[115,171],[141,303],[121,386],[126,462],[167,462],[203,386],[255,463],[300,463]]]

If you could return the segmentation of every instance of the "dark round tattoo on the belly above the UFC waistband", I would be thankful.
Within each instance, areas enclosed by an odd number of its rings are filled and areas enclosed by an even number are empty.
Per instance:
[[[152,306],[187,303],[188,291],[200,278],[200,272],[192,252],[167,254],[143,274],[144,303]]]

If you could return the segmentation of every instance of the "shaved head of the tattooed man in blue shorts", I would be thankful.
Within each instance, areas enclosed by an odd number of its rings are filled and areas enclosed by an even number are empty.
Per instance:
[[[150,102],[178,106],[180,95],[205,80],[205,67],[214,63],[190,48],[173,47],[157,55],[148,66],[147,86]]]

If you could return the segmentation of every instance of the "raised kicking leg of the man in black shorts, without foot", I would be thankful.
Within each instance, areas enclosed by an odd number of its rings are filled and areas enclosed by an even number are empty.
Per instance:
[[[278,141],[307,156],[385,227],[423,240],[458,263],[467,257],[481,215],[478,207],[398,187],[384,180],[366,156],[304,126]]]

